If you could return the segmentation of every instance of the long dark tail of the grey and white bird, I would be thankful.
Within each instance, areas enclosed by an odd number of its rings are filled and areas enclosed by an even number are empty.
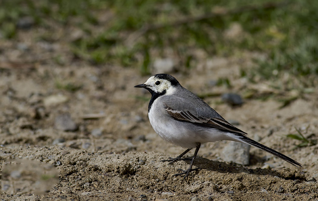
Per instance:
[[[273,150],[273,149],[271,149],[269,147],[266,147],[265,145],[260,144],[260,143],[258,143],[256,141],[246,137],[246,136],[241,136],[240,140],[242,140],[246,144],[252,145],[252,146],[257,147],[257,148],[259,148],[261,150],[267,151],[270,154],[273,154],[273,155],[275,155],[277,157],[280,157],[281,159],[287,161],[290,164],[293,164],[295,166],[298,165],[298,166],[302,167],[302,165],[300,163],[298,163],[297,161],[295,161],[294,159],[291,159],[290,157],[287,157],[287,156],[285,156],[284,154],[281,154],[278,151],[275,151],[275,150]]]

